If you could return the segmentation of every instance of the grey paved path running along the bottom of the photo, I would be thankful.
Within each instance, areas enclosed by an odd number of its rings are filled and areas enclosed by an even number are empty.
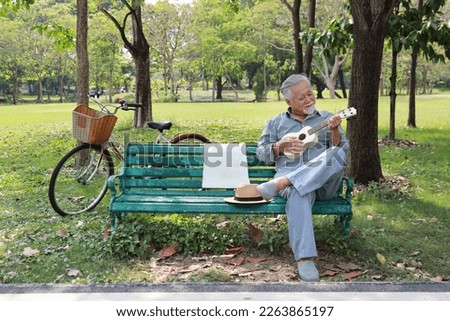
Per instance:
[[[2,300],[450,301],[450,283],[0,284]]]

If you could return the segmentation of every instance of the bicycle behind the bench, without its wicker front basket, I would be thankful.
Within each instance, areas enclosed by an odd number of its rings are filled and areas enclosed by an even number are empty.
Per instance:
[[[106,105],[100,102],[100,95],[101,93],[93,93],[89,97],[108,115],[116,114],[119,109],[136,111],[142,107],[142,104],[126,103],[123,100],[119,100],[118,105]],[[203,135],[195,133],[184,133],[169,139],[163,134],[163,130],[170,129],[170,126],[171,123],[166,122],[157,124],[157,143],[176,144],[190,139],[201,143],[209,142]],[[108,133],[110,130],[111,127],[108,128]],[[124,160],[122,151],[123,144],[111,133],[108,141],[103,144],[86,142],[66,153],[50,177],[48,195],[55,212],[66,216],[94,209],[107,192],[107,182],[114,174],[114,168]]]

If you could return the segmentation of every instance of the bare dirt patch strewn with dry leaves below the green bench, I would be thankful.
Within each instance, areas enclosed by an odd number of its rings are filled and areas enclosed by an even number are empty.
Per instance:
[[[326,249],[315,262],[323,280],[351,280],[365,273],[357,264],[346,262]],[[188,257],[182,254],[160,256],[151,260],[149,269],[155,282],[299,282],[297,264],[288,246],[278,255],[251,248],[230,249],[223,255]],[[377,277],[375,277],[376,279]],[[380,279],[383,277],[380,276]]]

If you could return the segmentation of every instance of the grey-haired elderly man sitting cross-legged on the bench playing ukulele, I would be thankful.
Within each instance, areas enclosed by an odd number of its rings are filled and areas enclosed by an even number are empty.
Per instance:
[[[340,126],[341,117],[316,109],[311,83],[305,75],[291,75],[281,91],[287,111],[266,123],[257,149],[258,158],[268,165],[275,164],[277,172],[274,179],[258,185],[257,191],[266,200],[277,193],[287,200],[289,242],[300,279],[319,281],[313,260],[317,249],[311,209],[316,198],[327,199],[336,194],[348,144]],[[287,135],[324,122],[325,128],[317,133],[317,144],[310,148],[298,135]]]

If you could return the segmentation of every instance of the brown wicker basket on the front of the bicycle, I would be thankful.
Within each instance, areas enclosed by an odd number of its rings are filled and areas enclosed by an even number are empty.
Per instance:
[[[117,117],[86,105],[78,105],[73,111],[73,137],[83,143],[101,145],[108,141]]]

